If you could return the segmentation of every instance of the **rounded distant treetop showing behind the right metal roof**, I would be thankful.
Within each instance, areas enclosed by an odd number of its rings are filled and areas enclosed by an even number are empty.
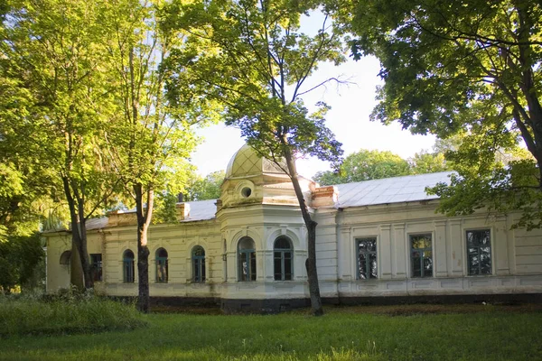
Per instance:
[[[397,154],[385,151],[351,153],[341,163],[339,172],[318,172],[314,180],[322,185],[350,183],[361,180],[379,180],[410,174],[410,165]],[[331,182],[330,182],[331,181]]]

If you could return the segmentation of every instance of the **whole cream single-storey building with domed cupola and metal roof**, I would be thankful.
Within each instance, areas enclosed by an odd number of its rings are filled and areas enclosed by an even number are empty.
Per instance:
[[[318,187],[302,179],[318,222],[324,301],[540,300],[542,232],[511,229],[516,216],[448,218],[425,187],[449,172]],[[220,199],[177,204],[178,222],[154,225],[148,245],[154,301],[287,310],[308,304],[307,235],[289,178],[243,146]],[[88,222],[95,289],[136,296],[135,214]],[[47,290],[70,283],[70,232],[47,237]]]

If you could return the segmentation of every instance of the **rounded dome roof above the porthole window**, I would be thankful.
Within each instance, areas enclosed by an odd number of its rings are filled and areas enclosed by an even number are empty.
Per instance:
[[[274,162],[257,155],[248,144],[243,145],[233,154],[226,168],[226,178],[240,178],[262,173],[284,174],[285,172]]]

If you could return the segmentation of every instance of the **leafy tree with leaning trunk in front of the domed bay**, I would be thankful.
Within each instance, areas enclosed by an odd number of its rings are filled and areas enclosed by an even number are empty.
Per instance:
[[[191,32],[198,31],[218,48],[215,57],[199,60],[201,71],[194,86],[224,104],[226,123],[238,126],[257,153],[276,162],[290,176],[308,230],[306,266],[313,314],[322,315],[316,222],[307,208],[294,160],[306,154],[335,162],[341,155],[341,143],[324,125],[328,107],[320,104],[310,114],[301,97],[337,80],[307,84],[320,63],[340,63],[344,57],[341,39],[327,16],[313,36],[301,32],[301,15],[316,7],[310,1],[217,0],[192,7],[174,2],[170,14],[176,26],[192,24]],[[178,59],[177,63],[183,61]],[[175,74],[182,72],[177,69]],[[172,83],[174,87],[175,78]]]

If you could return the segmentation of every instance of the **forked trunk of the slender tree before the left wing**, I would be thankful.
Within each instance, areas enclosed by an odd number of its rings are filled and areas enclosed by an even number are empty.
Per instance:
[[[135,213],[137,215],[137,276],[139,279],[137,308],[141,312],[147,313],[150,305],[147,230],[153,215],[154,193],[152,190],[147,191],[147,205],[144,209],[141,183],[134,185],[134,192]]]

